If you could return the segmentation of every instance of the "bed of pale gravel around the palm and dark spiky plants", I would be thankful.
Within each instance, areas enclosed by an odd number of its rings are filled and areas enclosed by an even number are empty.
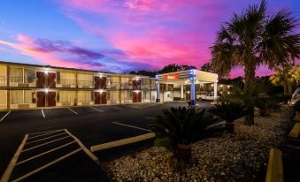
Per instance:
[[[256,116],[256,125],[235,122],[235,134],[192,144],[189,164],[177,163],[165,148],[148,148],[104,163],[112,181],[264,181],[270,148],[283,139],[289,110]]]

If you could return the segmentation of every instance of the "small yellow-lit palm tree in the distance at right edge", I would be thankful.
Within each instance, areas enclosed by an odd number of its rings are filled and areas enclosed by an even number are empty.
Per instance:
[[[293,88],[300,84],[300,64],[291,67],[285,66],[283,70],[278,70],[270,77],[274,85],[282,86],[284,94],[291,95]]]

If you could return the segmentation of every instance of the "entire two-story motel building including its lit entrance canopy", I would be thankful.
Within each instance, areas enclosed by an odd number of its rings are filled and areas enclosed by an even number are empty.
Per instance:
[[[213,93],[218,75],[188,70],[156,78],[0,61],[0,110],[191,101]]]

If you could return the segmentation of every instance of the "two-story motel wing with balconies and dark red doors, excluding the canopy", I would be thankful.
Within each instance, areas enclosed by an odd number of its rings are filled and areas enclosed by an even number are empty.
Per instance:
[[[155,102],[155,79],[0,62],[0,110]]]

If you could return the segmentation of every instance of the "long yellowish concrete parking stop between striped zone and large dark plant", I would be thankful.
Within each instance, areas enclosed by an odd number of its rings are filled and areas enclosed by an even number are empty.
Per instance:
[[[104,150],[104,149],[108,149],[108,148],[116,148],[116,147],[127,145],[130,143],[135,143],[135,142],[142,141],[142,140],[152,139],[152,138],[155,138],[155,136],[156,136],[155,133],[142,134],[142,135],[135,136],[132,138],[127,138],[127,139],[123,139],[123,140],[115,140],[112,142],[91,146],[90,150],[92,152],[96,152],[96,151]]]

